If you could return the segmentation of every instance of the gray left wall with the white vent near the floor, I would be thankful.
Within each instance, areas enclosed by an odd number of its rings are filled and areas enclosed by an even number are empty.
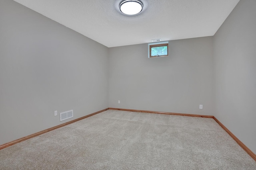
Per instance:
[[[0,0],[0,145],[107,107],[108,48]]]

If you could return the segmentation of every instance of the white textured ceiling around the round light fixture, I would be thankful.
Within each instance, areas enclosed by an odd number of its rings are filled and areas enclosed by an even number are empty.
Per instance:
[[[212,36],[239,0],[142,0],[135,16],[121,0],[14,0],[107,47]]]

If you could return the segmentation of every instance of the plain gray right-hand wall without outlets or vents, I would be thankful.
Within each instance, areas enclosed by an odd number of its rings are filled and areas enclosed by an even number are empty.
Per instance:
[[[240,0],[214,35],[216,118],[256,153],[256,0]]]

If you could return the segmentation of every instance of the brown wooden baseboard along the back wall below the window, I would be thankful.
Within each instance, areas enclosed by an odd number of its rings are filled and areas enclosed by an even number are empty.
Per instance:
[[[133,109],[119,109],[119,108],[108,108],[111,110],[122,110],[122,111],[134,111],[134,112],[142,112],[142,113],[156,113],[156,114],[164,114],[164,115],[179,115],[179,116],[190,116],[190,117],[204,117],[204,118],[213,118],[213,116],[208,115],[193,115],[193,114],[184,114],[184,113],[171,113],[171,112],[160,112],[160,111],[146,111],[146,110],[133,110]]]

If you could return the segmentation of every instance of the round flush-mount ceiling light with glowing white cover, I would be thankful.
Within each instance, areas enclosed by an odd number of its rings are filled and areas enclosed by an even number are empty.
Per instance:
[[[119,4],[120,11],[127,15],[135,15],[142,11],[143,3],[141,0],[122,0]]]

